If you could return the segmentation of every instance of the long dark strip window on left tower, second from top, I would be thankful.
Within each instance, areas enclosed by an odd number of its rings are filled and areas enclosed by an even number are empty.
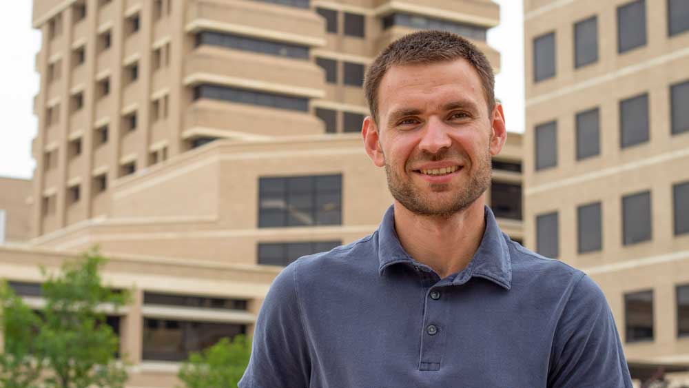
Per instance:
[[[267,41],[223,32],[199,32],[196,34],[196,45],[216,45],[278,57],[309,59],[309,48],[304,45]]]

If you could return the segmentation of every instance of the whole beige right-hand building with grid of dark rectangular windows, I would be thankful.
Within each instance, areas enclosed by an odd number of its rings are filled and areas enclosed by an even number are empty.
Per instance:
[[[686,367],[689,1],[525,0],[524,39],[526,246],[601,285],[633,374]]]

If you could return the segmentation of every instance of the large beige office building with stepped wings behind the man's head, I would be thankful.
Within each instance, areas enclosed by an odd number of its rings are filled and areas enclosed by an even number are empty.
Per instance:
[[[499,70],[498,14],[489,0],[35,0],[32,240],[0,248],[1,273],[39,303],[37,264],[99,244],[105,280],[136,286],[109,318],[130,387],[172,387],[189,351],[251,334],[283,265],[378,226],[392,198],[359,134],[367,64],[437,28]],[[520,241],[521,155],[511,134],[488,194]]]

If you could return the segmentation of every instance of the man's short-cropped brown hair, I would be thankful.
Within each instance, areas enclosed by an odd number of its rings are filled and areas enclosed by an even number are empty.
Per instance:
[[[364,90],[373,120],[378,121],[378,87],[393,65],[415,65],[466,59],[476,69],[488,103],[489,114],[495,107],[495,75],[486,55],[473,43],[451,32],[418,31],[390,43],[366,72]]]

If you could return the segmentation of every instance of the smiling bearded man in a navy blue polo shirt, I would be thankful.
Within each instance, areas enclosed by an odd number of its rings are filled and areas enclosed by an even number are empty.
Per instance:
[[[373,62],[364,147],[393,206],[274,281],[239,386],[632,387],[601,290],[503,234],[482,195],[506,130],[471,43],[416,32]]]

